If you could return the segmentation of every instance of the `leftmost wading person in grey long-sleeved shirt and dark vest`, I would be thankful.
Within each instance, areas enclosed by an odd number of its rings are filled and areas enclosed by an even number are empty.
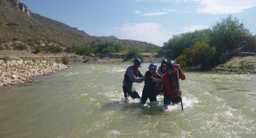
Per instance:
[[[129,100],[128,99],[129,96],[131,96],[134,99],[140,98],[140,95],[136,91],[135,87],[132,85],[133,82],[137,82],[137,83],[143,82],[144,75],[139,70],[139,67],[141,67],[141,60],[139,58],[136,58],[133,61],[133,65],[128,67],[124,74],[123,91],[124,91],[124,98],[127,101]]]

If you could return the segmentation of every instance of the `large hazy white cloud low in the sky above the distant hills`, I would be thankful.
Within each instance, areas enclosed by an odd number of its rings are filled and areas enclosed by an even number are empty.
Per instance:
[[[190,25],[178,29],[167,29],[158,23],[127,23],[121,27],[111,29],[112,35],[120,39],[139,40],[156,45],[163,45],[173,34],[186,33],[189,31],[208,28],[209,25]]]

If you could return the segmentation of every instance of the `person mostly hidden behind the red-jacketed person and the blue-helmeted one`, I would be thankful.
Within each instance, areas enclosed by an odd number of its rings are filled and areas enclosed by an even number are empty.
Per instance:
[[[163,59],[161,62],[161,66],[157,70],[157,73],[160,76],[163,76],[164,73],[166,72],[166,63],[167,63],[167,60]],[[163,92],[163,82],[157,82],[156,95],[160,94],[161,92]]]

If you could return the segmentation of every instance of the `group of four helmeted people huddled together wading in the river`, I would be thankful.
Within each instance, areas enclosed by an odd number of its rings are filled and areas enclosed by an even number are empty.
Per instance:
[[[145,104],[148,98],[150,102],[157,101],[156,95],[160,93],[163,93],[164,105],[178,104],[181,101],[182,91],[179,90],[178,79],[185,80],[186,76],[179,64],[175,64],[172,60],[163,59],[158,70],[157,65],[151,63],[145,75],[141,73],[139,67],[141,67],[141,60],[136,58],[133,65],[128,67],[124,74],[123,91],[127,101],[130,96],[134,99],[140,98],[140,103]],[[133,82],[142,83],[143,81],[145,85],[140,97],[133,86]]]

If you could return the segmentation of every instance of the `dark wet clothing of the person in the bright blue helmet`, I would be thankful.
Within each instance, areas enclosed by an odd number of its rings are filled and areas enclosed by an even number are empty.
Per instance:
[[[142,103],[142,104],[145,104],[146,101],[148,100],[148,98],[149,98],[150,102],[157,101],[156,100],[156,91],[155,91],[157,82],[153,82],[153,78],[161,79],[161,76],[158,74],[156,76],[154,76],[153,75],[154,73],[155,72],[150,73],[150,71],[147,71],[145,73],[145,76],[146,76],[145,85],[142,90],[142,96],[141,96],[141,100],[140,100],[140,103]]]

